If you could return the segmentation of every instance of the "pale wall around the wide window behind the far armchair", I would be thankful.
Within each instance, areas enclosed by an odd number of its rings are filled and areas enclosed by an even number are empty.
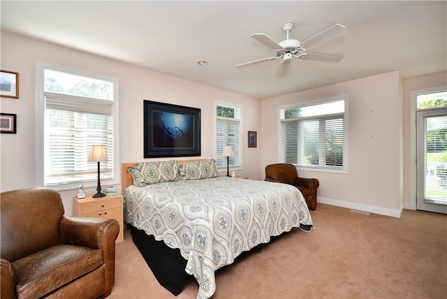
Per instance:
[[[279,156],[278,107],[349,95],[349,173],[300,171],[320,181],[318,201],[399,217],[402,210],[402,96],[397,71],[261,101],[261,172]],[[272,117],[272,112],[276,112]]]

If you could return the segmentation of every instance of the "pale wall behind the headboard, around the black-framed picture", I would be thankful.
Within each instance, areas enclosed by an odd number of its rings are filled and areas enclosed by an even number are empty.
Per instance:
[[[214,99],[242,106],[242,161],[238,175],[261,179],[261,138],[248,148],[247,131],[260,131],[261,103],[223,89],[163,75],[119,61],[1,32],[1,69],[19,73],[20,99],[1,98],[0,110],[17,114],[17,134],[0,136],[0,191],[36,186],[36,61],[119,79],[120,163],[143,161],[143,99],[201,109],[201,156],[214,156]],[[194,157],[197,158],[197,157]],[[182,158],[187,159],[187,157]],[[191,158],[193,159],[193,158]],[[120,190],[120,186],[117,186]],[[95,188],[86,189],[94,194]],[[76,190],[61,191],[66,215]]]

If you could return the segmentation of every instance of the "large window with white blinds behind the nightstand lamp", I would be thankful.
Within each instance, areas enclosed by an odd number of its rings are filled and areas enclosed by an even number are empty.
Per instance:
[[[96,185],[98,164],[87,162],[91,145],[105,145],[101,180],[117,184],[117,80],[45,64],[37,71],[38,185]]]

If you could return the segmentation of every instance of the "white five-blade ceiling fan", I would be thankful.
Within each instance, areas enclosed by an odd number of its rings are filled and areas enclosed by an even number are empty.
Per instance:
[[[311,38],[307,38],[307,40],[300,42],[296,39],[289,39],[288,34],[293,29],[295,24],[286,23],[282,25],[282,29],[286,32],[286,40],[280,41],[277,43],[272,40],[267,34],[253,34],[251,37],[256,39],[256,41],[267,45],[268,47],[274,50],[274,56],[258,59],[254,61],[245,62],[244,64],[237,64],[235,67],[247,66],[249,64],[257,64],[258,62],[274,60],[274,59],[282,59],[281,64],[279,64],[279,68],[277,71],[277,77],[281,77],[286,73],[286,68],[288,63],[292,61],[293,58],[297,58],[299,61],[312,61],[312,62],[320,62],[325,64],[335,64],[342,57],[324,55],[324,54],[316,54],[309,53],[306,49],[312,48],[316,45],[320,45],[321,43],[325,43],[339,36],[343,36],[346,34],[346,27],[341,24],[335,24],[328,29],[321,31],[319,34],[312,36]]]

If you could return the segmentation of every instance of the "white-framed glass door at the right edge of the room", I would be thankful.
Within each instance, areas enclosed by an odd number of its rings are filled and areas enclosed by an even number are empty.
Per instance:
[[[447,108],[416,112],[416,210],[447,214]]]

